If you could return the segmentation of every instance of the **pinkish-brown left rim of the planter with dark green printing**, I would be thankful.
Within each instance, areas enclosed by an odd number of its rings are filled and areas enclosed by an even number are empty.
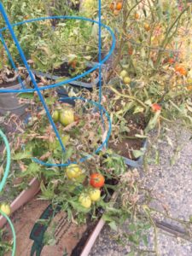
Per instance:
[[[11,203],[11,214],[17,211],[20,207],[25,205],[28,201],[31,201],[32,198],[38,194],[40,190],[40,183],[37,178],[33,178],[32,181],[28,185],[28,189],[23,190],[20,195],[18,195],[15,200]],[[0,215],[0,229],[3,228],[3,225],[6,224],[6,218],[3,218]]]

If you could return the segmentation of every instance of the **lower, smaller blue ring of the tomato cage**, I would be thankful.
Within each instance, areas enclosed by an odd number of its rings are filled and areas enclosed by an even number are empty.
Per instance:
[[[103,113],[105,113],[105,115],[106,115],[106,117],[107,117],[107,119],[108,119],[108,133],[107,133],[107,136],[106,136],[104,142],[95,150],[95,152],[93,152],[93,154],[97,154],[99,151],[102,150],[102,148],[103,148],[105,145],[107,145],[108,139],[109,139],[109,137],[110,137],[110,135],[111,135],[111,131],[112,131],[112,123],[111,123],[111,119],[110,119],[110,116],[109,116],[107,110],[106,110],[105,108],[103,108],[101,104],[99,104],[99,103],[97,103],[97,102],[93,102],[93,101],[87,100],[87,99],[85,99],[85,98],[83,98],[83,97],[63,97],[63,98],[60,99],[60,101],[62,102],[62,101],[67,100],[67,99],[70,99],[70,100],[81,100],[81,101],[84,101],[84,102],[89,102],[89,103],[91,103],[93,106],[95,106],[96,108],[98,108],[99,111],[102,110]],[[83,163],[85,160],[90,159],[93,154],[89,154],[89,155],[87,155],[86,157],[81,158],[81,159],[79,160],[79,162],[80,162],[80,163]],[[51,163],[45,163],[44,161],[38,160],[37,158],[32,158],[32,160],[35,161],[36,163],[42,165],[42,166],[49,166],[49,167],[51,167],[51,166],[60,166],[60,167],[61,167],[61,166],[69,166],[69,165],[71,165],[71,164],[78,164],[78,162],[68,162],[68,163],[66,163],[66,164],[51,164]]]

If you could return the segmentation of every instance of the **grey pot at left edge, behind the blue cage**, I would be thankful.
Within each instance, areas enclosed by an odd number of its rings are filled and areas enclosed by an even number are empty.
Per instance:
[[[25,85],[25,82],[23,82]],[[0,89],[6,90],[20,90],[20,84],[13,84],[12,86],[1,85]],[[0,113],[5,114],[7,112],[22,115],[26,112],[27,104],[20,104],[17,94],[15,93],[0,93]]]

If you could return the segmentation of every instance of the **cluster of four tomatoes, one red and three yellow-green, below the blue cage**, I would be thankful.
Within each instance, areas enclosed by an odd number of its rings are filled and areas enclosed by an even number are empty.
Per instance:
[[[67,177],[70,180],[78,180],[83,175],[82,170],[76,164],[71,164],[66,168]],[[90,175],[90,187],[79,195],[79,203],[84,208],[90,208],[92,202],[101,198],[101,188],[104,186],[105,178],[101,173],[96,172]]]

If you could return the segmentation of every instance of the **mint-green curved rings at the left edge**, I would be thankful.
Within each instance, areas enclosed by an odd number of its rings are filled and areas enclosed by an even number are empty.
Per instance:
[[[3,138],[3,142],[5,144],[5,148],[6,148],[6,152],[7,152],[7,164],[6,164],[6,167],[5,167],[5,172],[4,172],[4,175],[3,175],[3,179],[0,183],[0,192],[3,190],[3,187],[6,183],[6,180],[7,180],[7,177],[9,175],[9,169],[10,169],[10,160],[11,160],[11,157],[10,157],[10,147],[9,147],[9,142],[8,142],[8,139],[7,137],[4,135],[3,131],[0,130],[0,137]],[[16,250],[16,235],[15,235],[15,229],[14,229],[14,225],[12,224],[11,220],[9,219],[9,217],[4,214],[2,211],[0,211],[0,213],[3,215],[4,218],[7,219],[7,221],[9,222],[9,225],[10,225],[10,228],[12,230],[12,233],[13,233],[13,239],[14,239],[14,243],[13,243],[13,250],[12,250],[12,256],[15,256],[15,250]]]

